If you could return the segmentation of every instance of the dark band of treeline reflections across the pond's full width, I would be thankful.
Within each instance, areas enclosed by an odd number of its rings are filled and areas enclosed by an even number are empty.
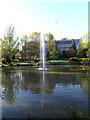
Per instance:
[[[49,74],[45,72],[44,93],[51,94],[55,89],[56,83],[67,86],[68,84],[79,84],[82,90],[87,94],[88,78],[90,74]],[[3,97],[8,104],[13,104],[19,89],[22,92],[29,90],[31,94],[42,94],[43,77],[41,71],[28,69],[4,70],[2,73]]]

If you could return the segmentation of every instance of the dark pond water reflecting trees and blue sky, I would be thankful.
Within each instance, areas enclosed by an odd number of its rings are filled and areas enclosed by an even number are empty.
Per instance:
[[[88,114],[88,67],[75,65],[11,67],[2,72],[3,118],[68,118],[76,111]]]

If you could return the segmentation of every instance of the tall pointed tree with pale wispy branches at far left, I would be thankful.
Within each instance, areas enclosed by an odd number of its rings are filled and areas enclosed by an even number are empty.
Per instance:
[[[19,37],[15,36],[15,27],[9,25],[4,38],[2,38],[2,57],[5,62],[11,62],[16,53],[19,51]]]

